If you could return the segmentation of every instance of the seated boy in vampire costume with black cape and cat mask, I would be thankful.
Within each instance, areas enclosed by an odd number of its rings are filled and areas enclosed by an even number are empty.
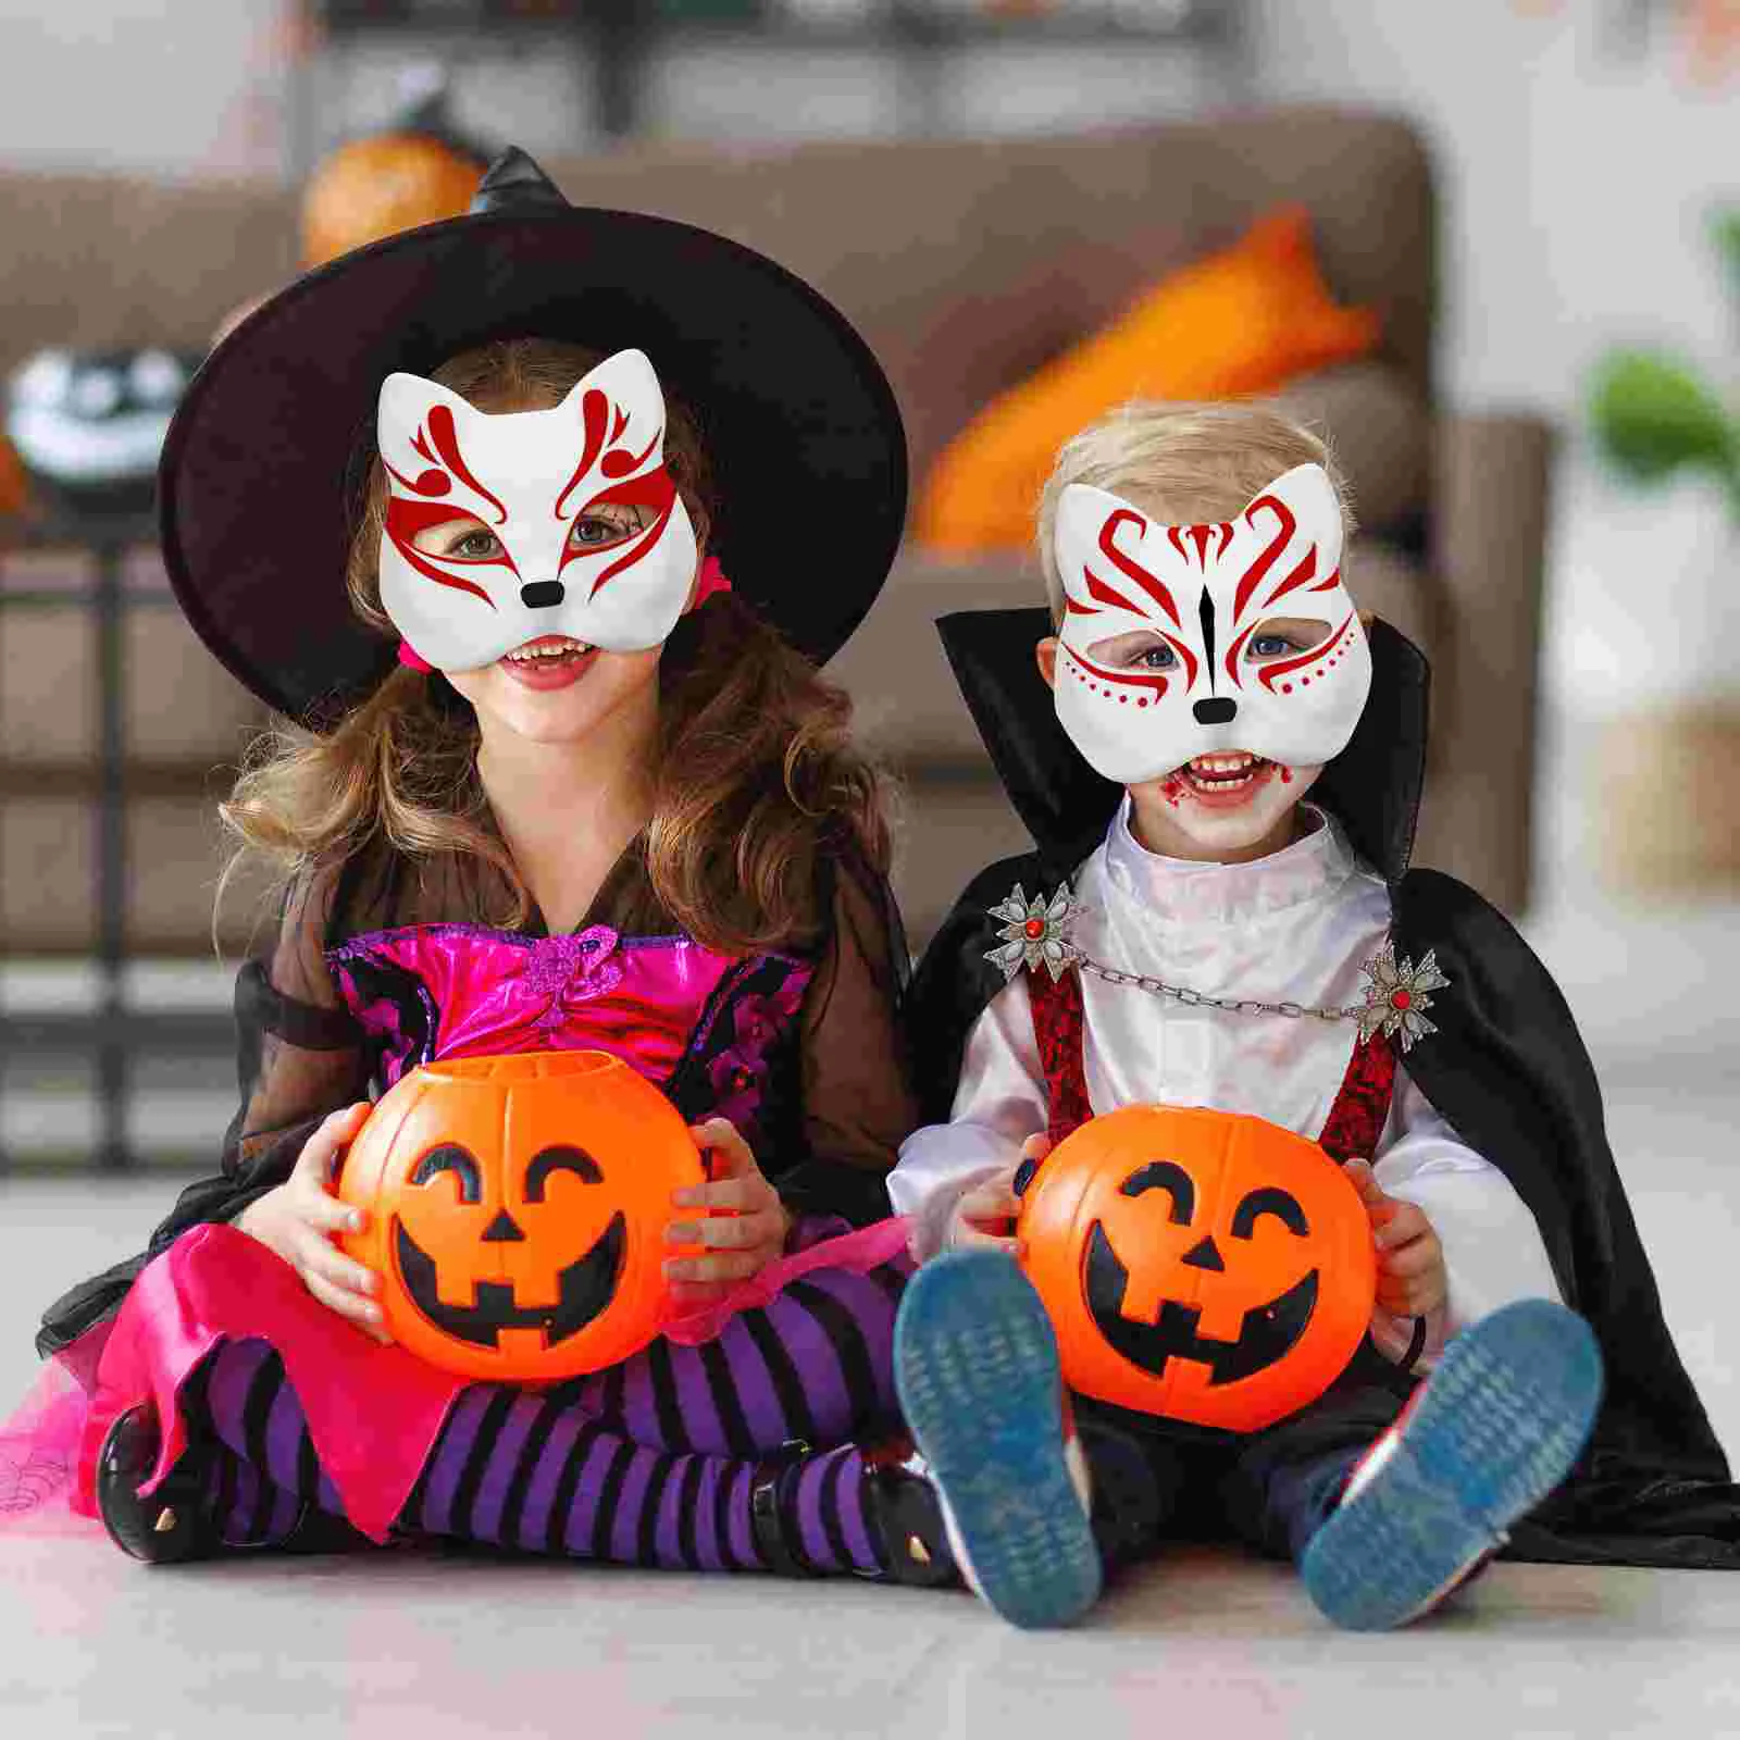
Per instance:
[[[1140,1101],[1315,1138],[1366,1204],[1378,1293],[1347,1371],[1262,1432],[1077,1401],[1105,1557],[1150,1550],[1208,1495],[1366,1629],[1429,1611],[1507,1540],[1648,1561],[1637,1536],[1677,1531],[1702,1536],[1691,1563],[1735,1557],[1730,1489],[1709,1509],[1726,1465],[1563,999],[1477,894],[1408,870],[1425,666],[1355,611],[1343,527],[1322,445],[1275,412],[1134,405],[1072,440],[1046,487],[1049,625],[943,625],[1041,851],[967,889],[914,985],[934,1122],[889,1185],[927,1260],[896,1362],[957,1545],[999,1542],[990,1575],[967,1569],[1020,1623],[1077,1616],[1096,1580],[1081,1509],[1065,1526],[1053,1503],[1023,1552],[992,1526],[1009,1495],[974,1474],[1011,1432],[1053,1495],[1074,1456],[1056,1409],[1039,1425],[1006,1401],[1013,1369],[1028,1389],[1056,1373],[1011,1221],[1053,1143]],[[1543,1505],[1589,1439],[1603,1355],[1585,1479]],[[1703,1521],[1676,1521],[1693,1484]],[[1655,1557],[1688,1563],[1686,1543]]]

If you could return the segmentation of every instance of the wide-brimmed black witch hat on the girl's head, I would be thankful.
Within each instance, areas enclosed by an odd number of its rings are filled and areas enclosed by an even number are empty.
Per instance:
[[[393,647],[345,592],[381,381],[503,338],[644,350],[699,423],[719,496],[708,548],[734,592],[818,663],[839,651],[907,512],[900,407],[870,348],[764,254],[571,205],[510,150],[470,214],[298,278],[188,388],[158,470],[164,560],[240,682],[322,724],[386,673]]]

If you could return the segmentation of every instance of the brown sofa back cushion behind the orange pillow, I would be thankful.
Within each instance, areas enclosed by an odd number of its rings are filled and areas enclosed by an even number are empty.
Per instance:
[[[1430,167],[1392,117],[1274,108],[1030,139],[637,144],[552,171],[571,198],[706,224],[816,284],[894,381],[919,477],[988,397],[1277,202],[1310,209],[1336,296],[1375,308],[1385,358],[1429,385]]]

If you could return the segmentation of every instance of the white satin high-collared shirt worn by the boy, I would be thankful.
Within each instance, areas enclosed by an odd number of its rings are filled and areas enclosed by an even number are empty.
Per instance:
[[[1075,877],[1086,912],[1072,940],[1108,967],[1213,997],[1362,1004],[1361,964],[1389,934],[1389,889],[1359,863],[1333,818],[1310,804],[1303,809],[1315,828],[1268,858],[1190,863],[1138,844],[1126,797]],[[1133,1101],[1216,1107],[1314,1140],[1357,1034],[1354,1021],[1185,1006],[1094,974],[1082,974],[1082,1009],[1096,1110]],[[1420,1042],[1430,1044],[1430,1035]],[[947,1242],[960,1197],[1014,1166],[1021,1143],[1046,1122],[1046,1075],[1023,971],[967,1039],[950,1121],[915,1131],[889,1176],[896,1213],[914,1220],[920,1260]],[[1540,1228],[1510,1180],[1456,1136],[1402,1065],[1371,1159],[1389,1195],[1425,1209],[1444,1249],[1448,1302],[1427,1322],[1423,1366],[1451,1335],[1500,1305],[1559,1298]],[[1413,1319],[1380,1310],[1371,1335],[1383,1354],[1402,1359]]]

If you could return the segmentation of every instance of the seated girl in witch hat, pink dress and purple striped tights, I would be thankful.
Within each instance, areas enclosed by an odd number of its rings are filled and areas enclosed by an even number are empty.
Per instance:
[[[311,729],[224,807],[291,875],[237,988],[223,1171],[40,1338],[82,1378],[75,1503],[127,1552],[360,1533],[952,1575],[877,1448],[903,950],[877,783],[809,663],[903,498],[894,402],[828,304],[705,231],[572,209],[522,153],[214,353],[164,454],[167,562]],[[371,1084],[545,1047],[612,1051],[687,1115],[713,1166],[668,1237],[701,1255],[644,1354],[463,1385],[388,1343],[332,1168]]]

